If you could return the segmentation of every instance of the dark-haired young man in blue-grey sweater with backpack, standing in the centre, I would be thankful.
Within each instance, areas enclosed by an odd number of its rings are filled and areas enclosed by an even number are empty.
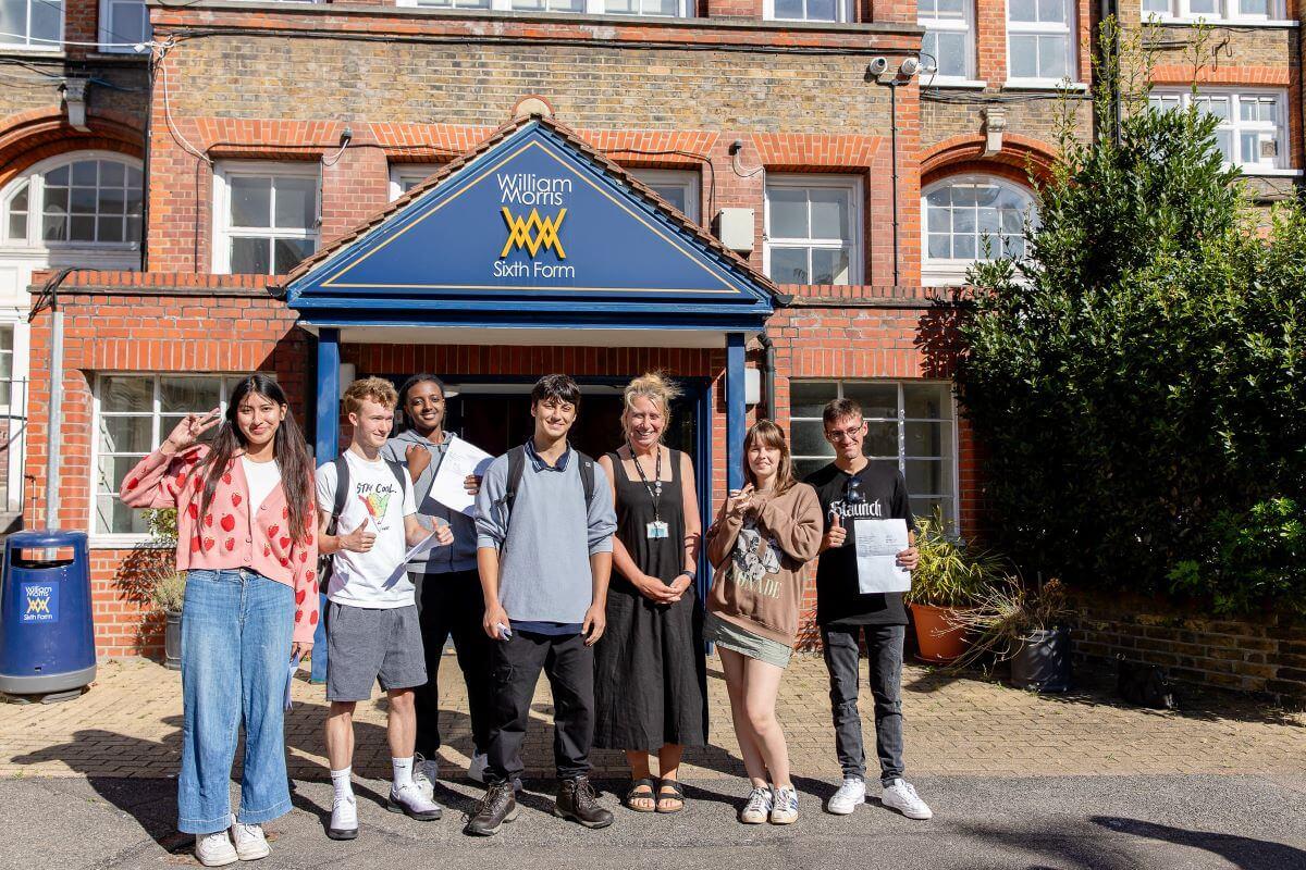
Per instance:
[[[594,653],[603,635],[616,514],[598,463],[576,453],[567,433],[580,387],[564,374],[530,393],[535,432],[499,457],[477,494],[477,566],[485,593],[494,713],[488,788],[465,831],[488,836],[517,815],[512,783],[539,670],[554,693],[554,813],[589,828],[613,823],[589,783],[594,734]]]

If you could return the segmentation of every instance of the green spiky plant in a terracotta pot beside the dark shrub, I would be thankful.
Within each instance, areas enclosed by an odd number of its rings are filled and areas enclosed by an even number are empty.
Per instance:
[[[905,599],[916,623],[917,655],[925,661],[955,661],[969,647],[968,630],[956,623],[955,613],[980,601],[1000,577],[1002,562],[991,553],[968,552],[964,541],[948,533],[938,507],[917,520],[916,548],[921,561]]]

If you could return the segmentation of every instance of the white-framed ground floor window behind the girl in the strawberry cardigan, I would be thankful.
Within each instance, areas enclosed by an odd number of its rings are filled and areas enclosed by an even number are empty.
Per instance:
[[[101,374],[95,378],[94,517],[95,535],[142,535],[144,511],[118,498],[123,477],[187,413],[222,408],[229,381],[221,376]],[[208,437],[217,433],[210,429]]]

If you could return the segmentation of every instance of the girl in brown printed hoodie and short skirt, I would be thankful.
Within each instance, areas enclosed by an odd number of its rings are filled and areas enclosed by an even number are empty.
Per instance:
[[[743,451],[747,485],[730,494],[708,530],[716,579],[703,635],[717,644],[752,783],[739,820],[760,824],[769,817],[773,824],[789,824],[798,818],[798,793],[776,695],[798,631],[803,566],[820,549],[823,518],[816,490],[794,481],[780,427],[759,421]]]

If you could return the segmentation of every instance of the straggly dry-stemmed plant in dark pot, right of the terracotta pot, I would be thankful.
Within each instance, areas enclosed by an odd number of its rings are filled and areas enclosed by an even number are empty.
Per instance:
[[[987,652],[1011,661],[1011,682],[1017,689],[1068,691],[1074,613],[1060,580],[1033,590],[1011,578],[994,583],[974,607],[951,617],[952,627],[976,638],[969,653],[956,664]]]

